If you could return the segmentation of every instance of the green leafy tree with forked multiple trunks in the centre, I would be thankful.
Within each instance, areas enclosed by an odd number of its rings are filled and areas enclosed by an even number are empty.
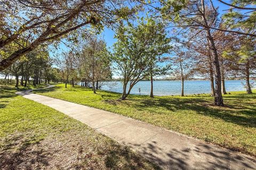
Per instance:
[[[114,69],[123,80],[123,93],[120,99],[124,100],[133,86],[149,75],[152,57],[148,55],[148,41],[141,27],[119,25],[115,38],[114,53],[112,56]],[[127,88],[129,84],[129,87]]]

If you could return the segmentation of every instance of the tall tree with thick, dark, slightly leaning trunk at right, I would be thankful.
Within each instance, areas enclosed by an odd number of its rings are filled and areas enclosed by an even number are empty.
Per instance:
[[[205,32],[207,41],[209,41],[209,49],[213,56],[213,64],[215,68],[215,96],[214,104],[216,106],[224,106],[221,95],[221,73],[219,64],[219,55],[213,38],[213,27],[217,25],[218,12],[213,6],[212,1],[206,3],[200,1],[165,1],[162,13],[166,19],[176,20],[177,26],[181,29],[190,29],[194,31],[194,36],[189,41],[197,37],[198,33]],[[182,30],[181,30],[182,31]]]

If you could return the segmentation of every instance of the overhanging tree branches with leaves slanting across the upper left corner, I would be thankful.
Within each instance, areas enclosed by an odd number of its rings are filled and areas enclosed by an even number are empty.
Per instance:
[[[137,6],[129,8],[120,0],[13,0],[1,2],[0,49],[15,43],[20,49],[2,58],[0,71],[3,71],[22,55],[31,52],[39,45],[58,43],[62,38],[75,40],[80,29],[86,25],[97,29],[113,25],[137,11]],[[23,43],[20,40],[25,40]]]

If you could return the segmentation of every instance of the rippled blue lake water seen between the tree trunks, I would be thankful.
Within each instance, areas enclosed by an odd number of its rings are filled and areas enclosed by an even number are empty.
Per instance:
[[[242,84],[245,84],[244,80],[226,80],[226,91],[243,91],[246,90]],[[251,80],[250,82],[253,82]],[[121,92],[123,91],[123,84],[119,81],[105,82],[107,85],[102,86],[102,90]],[[181,81],[154,81],[154,95],[155,96],[167,96],[167,95],[180,95],[181,94]],[[150,94],[150,81],[140,81],[133,87],[131,94],[139,94],[139,88],[141,89],[141,95]],[[191,80],[184,82],[184,94],[210,94],[211,87],[210,81],[206,80]]]

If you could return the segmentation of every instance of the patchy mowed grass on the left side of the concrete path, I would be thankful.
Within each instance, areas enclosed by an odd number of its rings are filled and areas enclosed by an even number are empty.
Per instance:
[[[131,149],[0,86],[0,169],[157,169]]]

